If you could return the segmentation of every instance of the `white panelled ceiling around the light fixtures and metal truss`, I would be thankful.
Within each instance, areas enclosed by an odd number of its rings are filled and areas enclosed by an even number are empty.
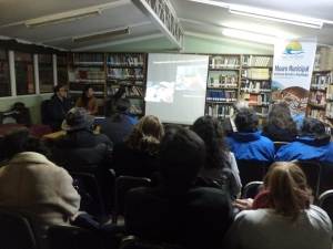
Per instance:
[[[186,35],[221,39],[223,38],[222,31],[229,28],[283,39],[317,37],[320,45],[333,46],[332,0],[223,0],[223,2],[214,0],[208,1],[210,4],[189,0],[169,1],[184,31],[184,39]],[[72,51],[93,51],[97,49],[112,51],[113,45],[155,38],[165,38],[173,46],[173,38],[168,35],[168,32],[165,34],[165,30],[163,31],[159,21],[152,20],[151,15],[143,13],[138,8],[138,2],[140,0],[0,0],[0,35]],[[274,10],[312,19],[323,19],[331,23],[324,23],[322,29],[312,29],[263,21],[229,13],[228,7],[234,4],[260,8],[263,9],[263,13]],[[226,6],[226,8],[221,6]],[[24,24],[28,20],[92,7],[99,7],[101,14],[34,29],[28,29]],[[130,29],[130,34],[84,42],[72,41],[72,38],[125,28]],[[165,44],[161,44],[161,50],[164,49],[162,46]],[[179,50],[182,51],[182,48]]]

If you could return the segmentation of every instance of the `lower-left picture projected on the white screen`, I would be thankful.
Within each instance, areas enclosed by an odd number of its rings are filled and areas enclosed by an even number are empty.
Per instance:
[[[174,82],[148,82],[145,101],[172,103]]]

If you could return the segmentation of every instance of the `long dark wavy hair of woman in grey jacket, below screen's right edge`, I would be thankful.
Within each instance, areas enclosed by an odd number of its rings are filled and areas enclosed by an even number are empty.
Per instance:
[[[221,123],[212,116],[201,116],[192,129],[204,141],[206,148],[205,168],[230,166],[230,149]]]

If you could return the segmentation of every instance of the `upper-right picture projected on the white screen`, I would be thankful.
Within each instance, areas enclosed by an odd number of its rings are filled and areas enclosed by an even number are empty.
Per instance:
[[[175,90],[202,90],[205,87],[205,79],[206,66],[178,66],[175,76]]]

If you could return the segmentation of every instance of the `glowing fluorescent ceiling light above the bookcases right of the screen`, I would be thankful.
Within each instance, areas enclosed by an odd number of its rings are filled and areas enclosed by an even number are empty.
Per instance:
[[[250,33],[241,30],[229,30],[225,29],[222,32],[225,37],[236,38],[241,40],[248,40],[248,41],[254,41],[258,43],[265,43],[265,44],[274,44],[278,38],[269,37],[264,34],[258,34],[258,33]]]

